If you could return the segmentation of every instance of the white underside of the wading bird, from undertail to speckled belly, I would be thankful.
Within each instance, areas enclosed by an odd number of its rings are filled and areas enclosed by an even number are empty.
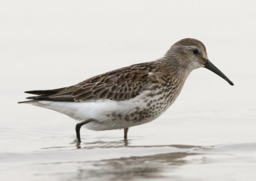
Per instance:
[[[95,131],[122,129],[150,122],[166,110],[165,107],[155,111],[156,105],[148,99],[148,93],[149,91],[145,91],[140,96],[127,101],[106,99],[92,102],[38,101],[34,105],[64,113],[76,120],[94,119],[84,126]],[[157,100],[158,97],[154,99]],[[163,102],[164,99],[161,101]]]

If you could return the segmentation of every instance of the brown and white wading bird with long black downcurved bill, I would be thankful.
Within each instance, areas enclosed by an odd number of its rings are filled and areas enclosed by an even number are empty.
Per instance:
[[[93,76],[70,87],[46,91],[27,91],[31,105],[64,113],[80,122],[80,128],[103,131],[124,129],[150,122],[175,101],[189,73],[207,68],[234,85],[208,59],[201,41],[186,38],[178,41],[157,61],[134,64]]]

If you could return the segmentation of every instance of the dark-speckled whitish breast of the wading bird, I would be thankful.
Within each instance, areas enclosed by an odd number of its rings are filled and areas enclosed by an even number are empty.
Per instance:
[[[130,106],[126,110],[112,112],[108,114],[108,117],[111,117],[111,120],[116,121],[116,123],[121,120],[126,122],[127,127],[156,119],[172,105],[180,92],[180,87],[170,83],[164,87],[157,87],[158,89],[146,91],[138,98],[130,100]],[[123,125],[125,125],[124,122]]]

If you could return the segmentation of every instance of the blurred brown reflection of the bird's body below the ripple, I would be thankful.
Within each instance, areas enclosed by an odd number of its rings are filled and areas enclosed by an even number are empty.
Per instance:
[[[172,171],[185,161],[183,157],[195,155],[186,152],[156,154],[143,157],[127,157],[102,160],[93,163],[93,168],[77,170],[77,178],[104,180],[138,180],[148,178],[163,178],[164,173]],[[84,163],[88,164],[88,163]],[[170,178],[170,177],[168,177]]]

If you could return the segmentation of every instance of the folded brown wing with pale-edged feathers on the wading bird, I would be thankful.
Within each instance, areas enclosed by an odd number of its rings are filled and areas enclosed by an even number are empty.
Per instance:
[[[28,91],[39,96],[33,100],[46,101],[96,101],[99,99],[127,100],[138,96],[147,84],[152,64],[135,64],[108,73],[93,76],[70,87],[47,91]]]

